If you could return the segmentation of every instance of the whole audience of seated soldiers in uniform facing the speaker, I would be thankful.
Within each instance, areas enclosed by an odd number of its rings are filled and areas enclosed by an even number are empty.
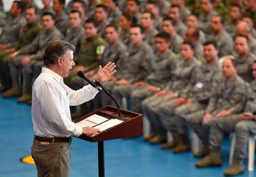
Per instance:
[[[197,167],[220,166],[224,134],[236,131],[233,164],[244,171],[250,134],[256,135],[256,1],[42,0],[13,1],[0,11],[0,91],[31,104],[46,44],[75,46],[72,89],[92,80],[99,65],[116,63],[106,89],[150,121],[145,141],[174,153],[190,150],[189,128],[202,140]],[[113,104],[104,94],[72,108],[72,118]],[[172,142],[166,143],[166,132]]]

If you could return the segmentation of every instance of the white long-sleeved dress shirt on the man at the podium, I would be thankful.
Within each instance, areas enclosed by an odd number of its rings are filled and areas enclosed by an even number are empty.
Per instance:
[[[70,105],[90,101],[98,93],[92,86],[70,89],[62,76],[43,67],[32,88],[32,120],[35,134],[41,137],[80,136],[82,127],[70,117]]]

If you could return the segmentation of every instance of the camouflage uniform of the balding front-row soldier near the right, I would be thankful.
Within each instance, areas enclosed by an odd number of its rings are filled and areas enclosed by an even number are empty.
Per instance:
[[[200,139],[208,139],[209,126],[213,123],[216,113],[222,110],[229,110],[231,113],[240,113],[244,109],[245,102],[245,81],[238,75],[232,81],[225,78],[219,84],[218,90],[213,93],[206,110],[198,110],[185,117],[188,125]],[[203,119],[205,113],[213,115],[212,118]]]

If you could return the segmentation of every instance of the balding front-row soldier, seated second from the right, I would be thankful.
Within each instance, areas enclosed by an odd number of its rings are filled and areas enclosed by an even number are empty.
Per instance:
[[[223,79],[220,81],[218,89],[212,94],[210,102],[205,110],[199,110],[185,117],[188,125],[204,143],[208,150],[209,131],[215,121],[229,120],[231,114],[241,113],[244,110],[246,101],[246,83],[236,73],[237,64],[234,58],[226,57],[223,62]],[[210,133],[210,136],[218,134]],[[196,163],[197,167],[207,167],[213,162],[218,166],[222,164],[220,153],[210,153],[202,161]]]

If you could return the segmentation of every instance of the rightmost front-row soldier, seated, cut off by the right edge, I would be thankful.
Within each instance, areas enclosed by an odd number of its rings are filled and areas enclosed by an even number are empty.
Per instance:
[[[224,175],[233,176],[238,175],[244,171],[242,160],[247,155],[247,144],[250,133],[255,134],[255,96],[256,96],[256,61],[252,64],[252,76],[254,80],[250,83],[247,94],[247,102],[245,110],[240,114],[232,114],[228,117],[216,118],[210,126],[209,149],[210,154],[205,157],[204,167],[209,167],[215,163],[216,158],[211,158],[210,155],[220,154],[221,142],[223,135],[231,133],[236,130],[236,147],[235,160],[231,167],[224,172]]]

